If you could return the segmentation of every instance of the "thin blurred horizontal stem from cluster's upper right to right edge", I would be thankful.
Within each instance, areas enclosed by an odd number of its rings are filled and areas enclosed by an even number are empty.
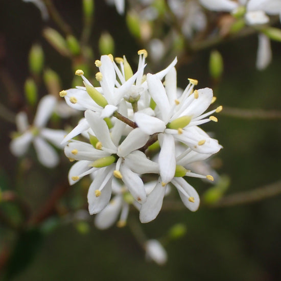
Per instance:
[[[281,119],[281,111],[277,110],[241,109],[224,106],[221,114],[243,119]]]

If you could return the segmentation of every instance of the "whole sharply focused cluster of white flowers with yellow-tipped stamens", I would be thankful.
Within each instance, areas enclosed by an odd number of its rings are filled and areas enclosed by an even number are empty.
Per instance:
[[[69,170],[70,184],[85,175],[92,177],[89,213],[100,213],[96,217],[100,228],[109,227],[119,213],[119,224],[124,225],[129,204],[139,210],[141,222],[155,219],[170,185],[186,207],[197,210],[199,195],[183,177],[213,180],[189,167],[221,149],[216,139],[198,127],[217,122],[212,114],[222,109],[204,113],[215,101],[212,89],[197,90],[198,81],[189,79],[179,93],[176,58],[162,71],[144,75],[147,51],[140,50],[138,55],[135,74],[125,56],[103,55],[96,61],[99,87],[78,70],[84,87],[60,92],[69,106],[84,111],[84,118],[63,140],[67,143],[64,152],[69,160],[76,160]]]

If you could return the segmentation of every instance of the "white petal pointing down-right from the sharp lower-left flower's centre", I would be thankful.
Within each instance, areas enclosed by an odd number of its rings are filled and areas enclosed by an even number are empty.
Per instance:
[[[146,190],[142,179],[140,179],[138,174],[132,172],[126,165],[120,167],[120,172],[123,176],[123,182],[126,184],[134,199],[143,204],[146,201]]]

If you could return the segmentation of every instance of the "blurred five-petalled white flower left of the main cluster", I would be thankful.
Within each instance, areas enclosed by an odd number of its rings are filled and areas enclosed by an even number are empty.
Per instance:
[[[15,156],[24,155],[30,144],[33,143],[38,160],[42,165],[53,168],[58,164],[57,152],[46,140],[62,148],[61,141],[66,133],[63,130],[45,128],[55,105],[56,98],[54,96],[44,96],[38,104],[34,122],[31,126],[28,124],[25,112],[17,114],[16,125],[20,135],[13,138],[10,143],[11,152]]]

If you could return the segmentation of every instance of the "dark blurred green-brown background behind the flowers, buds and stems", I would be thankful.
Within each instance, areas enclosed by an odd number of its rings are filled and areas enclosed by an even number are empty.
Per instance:
[[[82,2],[56,0],[53,4],[71,28],[73,35],[80,38],[83,30]],[[129,6],[126,6],[125,14],[128,10]],[[161,26],[162,33],[172,24],[173,22],[165,19],[165,25]],[[132,34],[126,15],[118,14],[114,6],[109,6],[104,1],[95,1],[91,26],[88,40],[91,63],[103,54],[99,44],[101,35],[106,32],[114,40],[114,56],[122,57],[125,54],[133,71],[136,71],[137,51],[146,48],[146,45],[145,40]],[[0,103],[4,105],[4,108],[0,108],[2,112],[5,108],[9,110],[8,113],[14,114],[20,110],[33,113],[35,111],[26,105],[24,92],[26,79],[31,75],[29,53],[35,43],[42,46],[44,69],[53,69],[59,75],[59,90],[73,86],[75,69],[85,63],[78,61],[79,56],[75,60],[55,50],[42,35],[46,27],[61,32],[52,18],[44,21],[40,11],[32,3],[0,0]],[[278,21],[275,27],[280,28]],[[198,88],[213,88],[217,97],[216,104],[223,105],[226,109],[280,112],[281,44],[272,41],[271,46],[273,59],[263,71],[255,68],[255,33],[233,40],[226,38],[219,44],[189,56],[186,56],[182,49],[179,49],[178,54],[174,49],[172,55],[178,55],[179,58],[178,86],[184,88],[188,78],[198,79]],[[209,57],[213,50],[219,51],[223,58],[223,73],[219,79],[212,78],[209,72]],[[170,61],[164,58],[155,62],[149,53],[146,72],[159,71]],[[41,83],[38,96],[46,95],[48,90],[48,87]],[[217,172],[230,180],[225,196],[248,192],[276,182],[277,188],[280,189],[280,118],[263,119],[259,118],[259,114],[257,118],[243,118],[232,116],[230,109],[217,114],[217,117],[218,123],[208,123],[202,125],[202,128],[213,132],[214,137],[219,139],[224,147],[212,161]],[[7,227],[3,220],[0,222],[0,264],[3,265],[0,276],[3,279],[281,279],[280,195],[233,206],[203,203],[196,213],[190,212],[180,201],[175,210],[169,208],[169,205],[164,205],[157,219],[141,225],[147,238],[159,239],[167,250],[167,263],[158,266],[145,259],[144,249],[132,235],[132,232],[137,231],[132,231],[138,220],[137,212],[131,212],[129,215],[129,222],[131,221],[133,226],[124,228],[113,226],[107,230],[98,230],[93,225],[93,217],[85,221],[76,220],[75,211],[83,207],[87,209],[87,180],[68,186],[67,173],[71,163],[63,152],[60,152],[61,164],[56,169],[44,168],[36,163],[32,150],[28,158],[14,157],[9,151],[9,143],[11,133],[16,127],[5,118],[1,118],[1,121],[1,190],[15,192],[29,205],[29,212],[32,213],[34,221],[38,221],[32,227],[18,229],[14,226],[22,221],[19,211],[22,206],[18,207],[9,202],[0,204],[0,214],[5,214],[2,219],[7,220],[8,217],[8,220],[12,221],[11,227]],[[60,121],[52,122],[55,127],[65,125]],[[212,187],[200,179],[192,178],[189,182],[202,196]],[[52,212],[42,214],[40,210],[46,198],[53,195],[53,190],[58,184],[64,186],[63,196],[52,206]],[[174,197],[176,196],[177,194]],[[171,239],[169,231],[179,223],[183,225],[186,233]],[[8,275],[5,275],[7,272]]]

